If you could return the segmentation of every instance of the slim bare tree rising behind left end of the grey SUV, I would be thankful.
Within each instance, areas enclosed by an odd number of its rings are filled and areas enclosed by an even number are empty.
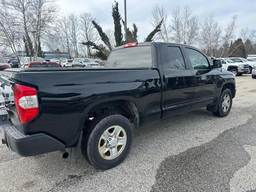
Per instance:
[[[79,55],[78,55],[78,48],[77,48],[77,43],[78,43],[78,33],[79,33],[79,21],[78,21],[78,18],[75,14],[70,14],[68,16],[68,22],[69,22],[69,28],[68,28],[68,31],[69,31],[69,34],[70,34],[70,37],[71,37],[71,42],[74,46],[74,52],[75,52],[75,57],[77,58]]]

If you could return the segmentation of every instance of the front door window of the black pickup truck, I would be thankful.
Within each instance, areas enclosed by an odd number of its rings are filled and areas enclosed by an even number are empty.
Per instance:
[[[210,69],[207,58],[197,50],[186,48],[193,69]]]

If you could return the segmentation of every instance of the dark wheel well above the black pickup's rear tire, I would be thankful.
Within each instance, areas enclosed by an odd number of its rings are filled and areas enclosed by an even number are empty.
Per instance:
[[[100,103],[88,112],[88,118],[94,118],[102,113],[114,113],[125,116],[136,128],[139,127],[139,113],[134,102],[130,100],[114,100]]]

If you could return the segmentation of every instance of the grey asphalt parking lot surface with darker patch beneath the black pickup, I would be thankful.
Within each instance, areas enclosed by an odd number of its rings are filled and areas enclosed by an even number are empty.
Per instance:
[[[236,88],[225,118],[203,108],[135,130],[130,154],[110,170],[0,144],[0,191],[256,191],[256,80],[236,77]]]

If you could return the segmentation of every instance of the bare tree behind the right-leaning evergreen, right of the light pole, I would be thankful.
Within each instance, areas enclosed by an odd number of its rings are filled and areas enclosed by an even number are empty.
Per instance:
[[[164,6],[155,4],[151,10],[152,19],[150,20],[151,25],[156,28],[160,21],[162,22],[161,31],[155,36],[156,40],[170,42],[171,41],[171,26],[168,24],[168,13],[164,9]]]

